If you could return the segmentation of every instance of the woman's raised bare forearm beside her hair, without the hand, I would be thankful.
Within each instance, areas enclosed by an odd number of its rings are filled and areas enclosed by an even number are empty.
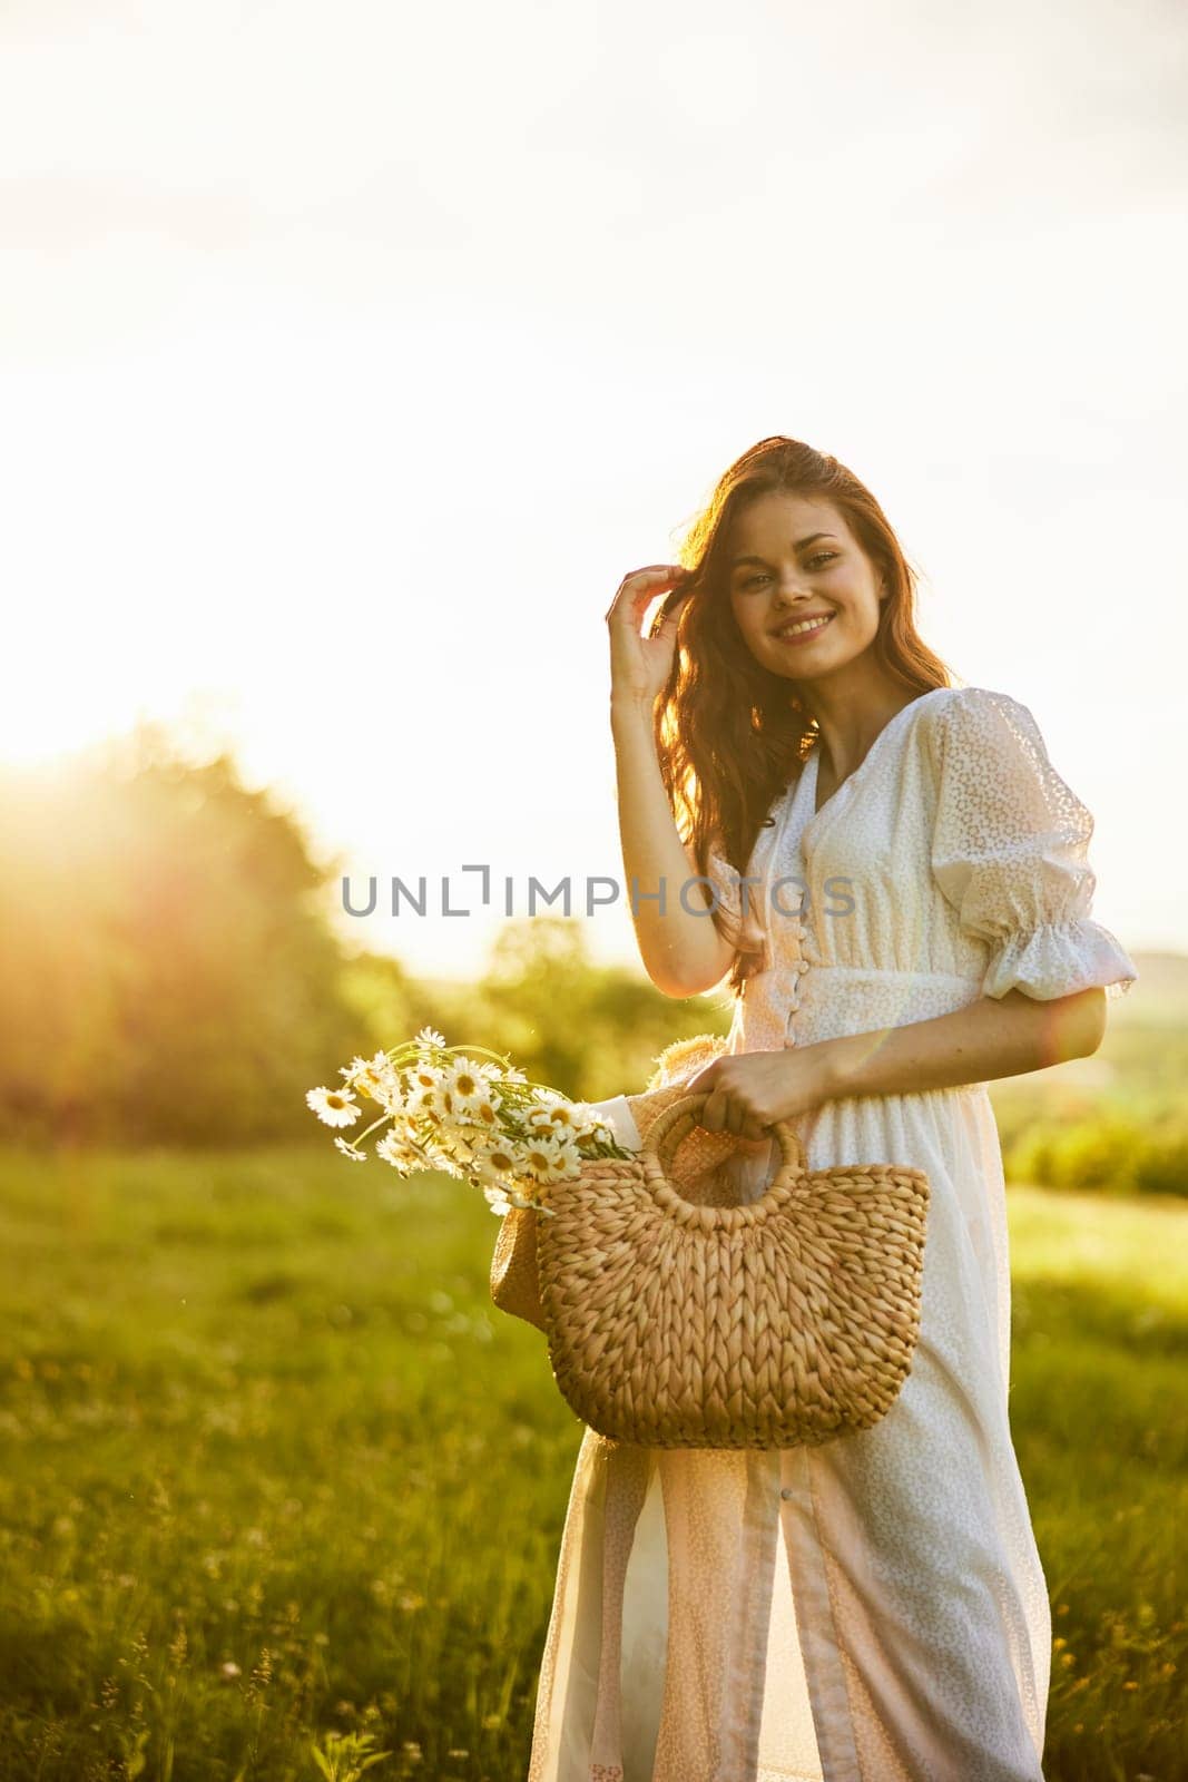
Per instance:
[[[691,907],[682,907],[680,887],[696,877],[696,864],[680,841],[664,791],[652,702],[613,695],[611,732],[625,896],[643,969],[664,996],[700,996],[727,975],[734,964],[734,948],[714,927],[707,886],[689,884],[686,902]],[[632,880],[638,884],[634,900]],[[661,889],[663,914],[657,895]]]

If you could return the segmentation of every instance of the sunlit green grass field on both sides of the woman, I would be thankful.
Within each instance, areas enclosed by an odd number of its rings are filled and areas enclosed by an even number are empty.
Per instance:
[[[1174,1782],[1188,1206],[1010,1219],[1046,1775]],[[522,1782],[581,1426],[495,1231],[330,1140],[0,1157],[0,1782]]]

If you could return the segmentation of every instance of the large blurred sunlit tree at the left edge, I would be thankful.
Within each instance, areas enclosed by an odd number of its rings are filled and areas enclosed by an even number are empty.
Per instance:
[[[308,1135],[305,1091],[358,1019],[330,877],[228,756],[141,725],[0,777],[0,1132],[237,1142]]]

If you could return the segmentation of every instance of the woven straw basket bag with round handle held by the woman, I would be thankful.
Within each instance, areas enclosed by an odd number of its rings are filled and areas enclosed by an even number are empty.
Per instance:
[[[867,1429],[919,1336],[928,1178],[866,1164],[809,1173],[794,1130],[766,1194],[691,1205],[666,1158],[705,1094],[632,1158],[552,1183],[536,1231],[549,1358],[570,1408],[641,1447],[785,1449]]]

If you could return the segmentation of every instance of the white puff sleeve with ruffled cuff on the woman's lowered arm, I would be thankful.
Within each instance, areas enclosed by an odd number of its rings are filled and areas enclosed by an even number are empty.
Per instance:
[[[981,994],[1127,991],[1138,971],[1090,916],[1094,818],[1051,764],[1028,707],[958,688],[939,713],[933,764],[932,871],[962,934],[990,948]]]

